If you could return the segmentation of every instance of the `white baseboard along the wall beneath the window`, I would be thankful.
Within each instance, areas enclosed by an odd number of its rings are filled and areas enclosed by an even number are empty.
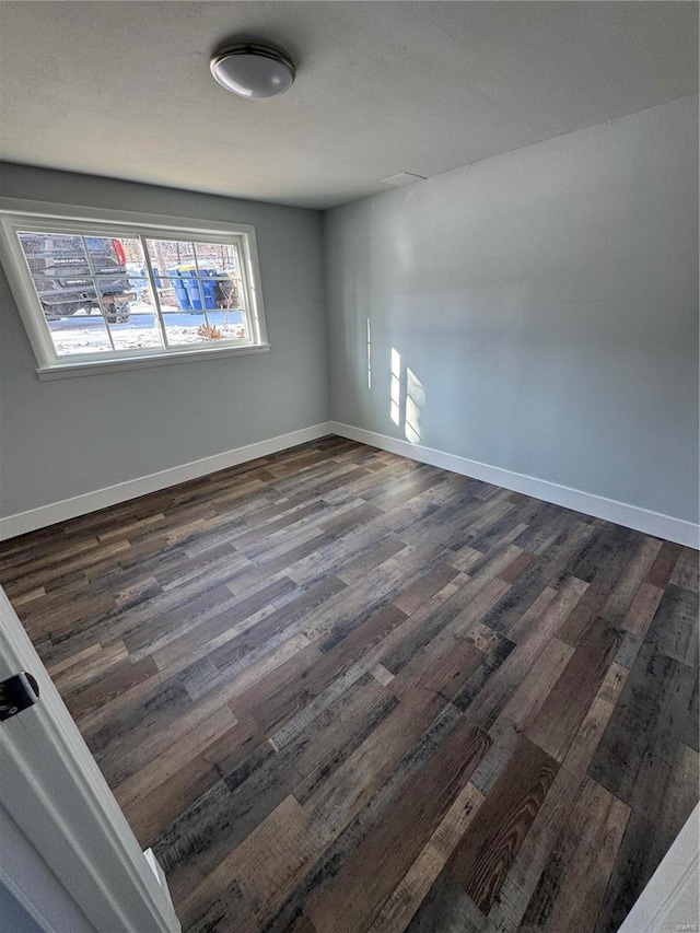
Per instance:
[[[279,434],[268,441],[258,441],[256,444],[224,451],[221,454],[170,467],[160,473],[152,473],[149,476],[128,479],[126,482],[118,482],[104,489],[95,489],[93,492],[74,495],[72,499],[63,499],[60,502],[40,505],[38,509],[30,509],[27,512],[19,512],[16,515],[0,518],[0,541],[14,538],[26,532],[55,525],[57,522],[66,522],[69,518],[77,518],[79,515],[97,512],[100,509],[117,505],[119,502],[127,502],[129,499],[137,499],[139,495],[145,495],[149,492],[158,492],[161,489],[167,489],[168,486],[176,486],[178,482],[198,479],[200,476],[228,469],[257,457],[266,457],[269,454],[276,454],[278,451],[305,444],[307,441],[316,441],[318,438],[331,433],[330,422],[325,421],[320,424],[313,424],[311,428],[292,431],[289,434]]]

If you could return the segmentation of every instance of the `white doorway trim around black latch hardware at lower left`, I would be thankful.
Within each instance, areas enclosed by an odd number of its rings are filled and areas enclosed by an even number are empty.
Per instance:
[[[38,702],[0,722],[0,813],[14,824],[47,873],[97,933],[177,933],[179,922],[102,772],[90,754],[4,591],[0,587],[0,681],[20,672],[38,684]],[[4,836],[5,887],[32,903],[26,860]],[[36,867],[36,866],[35,866]],[[39,919],[52,930],[51,919]]]

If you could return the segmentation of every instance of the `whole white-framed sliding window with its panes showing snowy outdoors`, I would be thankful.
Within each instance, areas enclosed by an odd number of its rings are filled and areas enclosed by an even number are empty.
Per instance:
[[[40,377],[269,349],[252,228],[126,217],[0,211]]]

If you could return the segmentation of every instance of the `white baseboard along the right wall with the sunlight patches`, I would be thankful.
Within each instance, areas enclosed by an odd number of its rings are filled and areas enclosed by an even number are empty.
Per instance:
[[[638,505],[630,505],[627,502],[617,502],[615,499],[606,499],[604,495],[595,495],[592,492],[583,492],[569,486],[560,486],[558,482],[550,482],[546,479],[513,473],[478,460],[470,460],[456,454],[446,454],[432,447],[410,444],[408,441],[399,441],[395,438],[388,438],[386,434],[365,431],[363,428],[354,428],[339,421],[330,422],[330,431],[341,438],[349,438],[351,441],[380,447],[382,451],[410,457],[410,459],[448,469],[472,479],[480,479],[504,489],[512,489],[514,492],[523,492],[525,495],[542,499],[545,502],[552,502],[555,505],[563,505],[565,509],[573,509],[575,512],[583,512],[585,515],[604,518],[617,525],[625,525],[627,528],[634,528],[646,535],[676,541],[679,545],[696,548],[696,550],[700,549],[700,525],[695,525],[692,522],[686,522],[682,518],[674,518],[672,515],[663,515],[660,512],[652,512],[650,509],[640,509]]]

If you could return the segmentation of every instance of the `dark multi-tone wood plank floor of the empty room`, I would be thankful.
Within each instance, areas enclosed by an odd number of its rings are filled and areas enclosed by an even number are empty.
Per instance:
[[[483,482],[327,438],[0,582],[187,933],[616,931],[697,802],[697,552]]]

